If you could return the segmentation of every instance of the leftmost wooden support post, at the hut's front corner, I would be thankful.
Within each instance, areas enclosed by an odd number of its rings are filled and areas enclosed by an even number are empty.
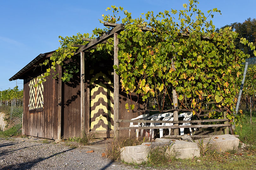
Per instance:
[[[61,139],[61,96],[62,96],[62,67],[58,65],[58,133],[57,133],[57,139]]]

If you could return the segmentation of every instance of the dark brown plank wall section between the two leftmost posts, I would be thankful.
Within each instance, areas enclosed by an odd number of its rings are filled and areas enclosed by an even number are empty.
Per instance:
[[[64,139],[80,137],[80,73],[77,73],[70,82],[64,84],[63,116]]]

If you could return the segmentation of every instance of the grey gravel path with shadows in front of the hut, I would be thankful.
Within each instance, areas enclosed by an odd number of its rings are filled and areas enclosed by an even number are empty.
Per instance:
[[[64,144],[43,143],[27,138],[0,139],[0,169],[135,169],[134,166],[103,158],[101,153],[86,153],[86,151],[88,150],[84,148],[74,149]]]

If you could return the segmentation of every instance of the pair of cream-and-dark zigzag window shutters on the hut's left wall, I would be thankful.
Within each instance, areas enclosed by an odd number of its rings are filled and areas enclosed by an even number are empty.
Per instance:
[[[38,84],[40,76],[29,81],[29,110],[44,107],[44,86],[42,83]],[[38,86],[34,87],[36,84]]]

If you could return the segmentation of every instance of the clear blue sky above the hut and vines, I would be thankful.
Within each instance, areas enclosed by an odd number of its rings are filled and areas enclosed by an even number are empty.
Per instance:
[[[91,33],[99,23],[105,9],[111,5],[122,6],[138,17],[147,11],[182,9],[187,0],[129,0],[129,1],[67,1],[67,0],[0,0],[0,91],[13,88],[16,81],[9,78],[21,70],[40,53],[59,47],[58,36]],[[205,14],[209,9],[220,9],[213,24],[217,27],[256,18],[256,1],[199,0],[198,8]],[[23,80],[17,85],[23,88]]]

